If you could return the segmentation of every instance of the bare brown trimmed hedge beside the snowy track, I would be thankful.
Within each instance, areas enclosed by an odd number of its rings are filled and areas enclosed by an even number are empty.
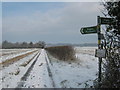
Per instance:
[[[72,46],[55,46],[47,47],[45,49],[59,60],[75,60],[75,51]]]

